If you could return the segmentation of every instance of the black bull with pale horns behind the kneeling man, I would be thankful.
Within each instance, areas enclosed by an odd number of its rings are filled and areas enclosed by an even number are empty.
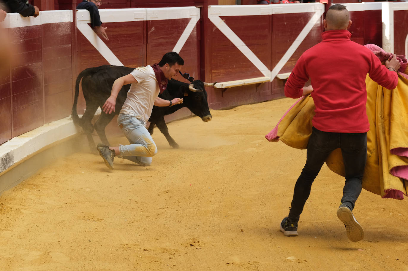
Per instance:
[[[105,114],[103,111],[92,125],[91,121],[95,115],[96,110],[100,107],[102,109],[103,104],[106,99],[111,95],[113,82],[124,75],[128,75],[134,70],[134,68],[122,67],[122,66],[110,66],[103,65],[94,68],[87,68],[82,71],[75,83],[75,98],[74,104],[72,106],[71,117],[74,124],[79,125],[84,130],[91,151],[95,151],[96,145],[92,138],[92,132],[95,129],[98,136],[102,140],[102,143],[109,145],[108,139],[105,134],[105,127],[113,119],[116,114],[119,114],[124,101],[127,97],[127,92],[130,88],[130,84],[125,85],[120,90],[118,97],[116,98],[115,112],[111,114]],[[77,102],[79,95],[79,84],[82,79],[82,93],[84,94],[86,109],[82,118],[78,117],[77,113]],[[203,121],[211,121],[212,116],[208,108],[207,93],[204,88],[204,83],[200,80],[195,80],[193,84],[194,88],[192,91],[189,88],[189,84],[173,80],[169,81],[167,84],[167,89],[164,90],[162,94],[159,95],[160,98],[165,100],[171,100],[176,97],[183,98],[182,104],[176,104],[171,107],[159,107],[153,106],[153,110],[150,116],[150,126],[149,132],[153,134],[153,128],[156,125],[160,132],[164,134],[170,146],[173,148],[179,148],[179,145],[174,141],[174,139],[169,134],[169,129],[164,121],[164,116],[169,115],[180,108],[187,107],[195,115],[201,117]],[[198,90],[198,91],[197,91]],[[201,91],[202,90],[202,91]]]

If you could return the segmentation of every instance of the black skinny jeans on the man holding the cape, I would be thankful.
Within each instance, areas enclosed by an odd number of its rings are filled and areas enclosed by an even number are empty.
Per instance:
[[[346,184],[343,188],[341,203],[354,209],[355,202],[361,193],[361,180],[367,159],[367,133],[333,133],[323,132],[313,127],[307,145],[306,164],[295,184],[293,200],[289,211],[289,221],[299,221],[303,207],[310,195],[310,188],[327,156],[335,149],[341,148]]]

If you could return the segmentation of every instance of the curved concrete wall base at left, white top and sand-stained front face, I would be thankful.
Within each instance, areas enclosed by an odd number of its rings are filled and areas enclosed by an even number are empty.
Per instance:
[[[47,123],[3,143],[0,148],[0,194],[53,159],[83,148],[86,138],[69,118]]]

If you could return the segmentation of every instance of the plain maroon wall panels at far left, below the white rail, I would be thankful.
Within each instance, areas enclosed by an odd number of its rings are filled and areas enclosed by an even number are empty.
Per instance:
[[[7,31],[13,62],[0,80],[0,143],[67,117],[72,101],[71,22]]]

